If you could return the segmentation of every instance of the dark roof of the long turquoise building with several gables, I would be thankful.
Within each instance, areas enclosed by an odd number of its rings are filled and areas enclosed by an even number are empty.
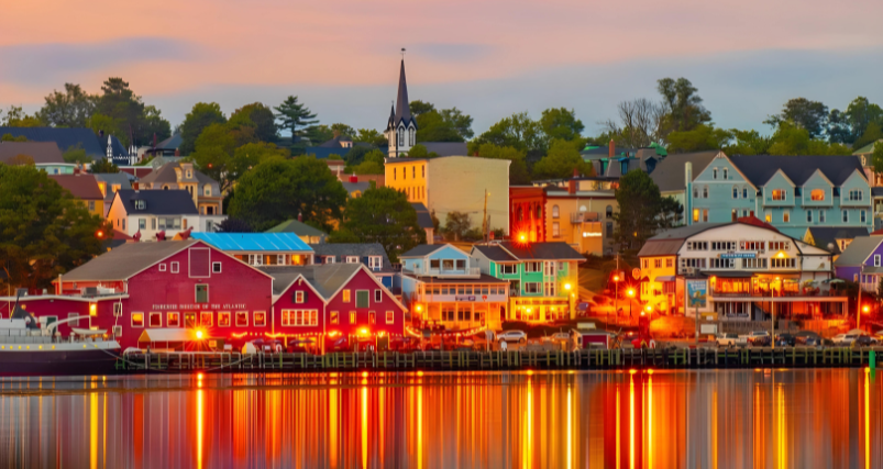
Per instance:
[[[846,182],[857,170],[864,176],[858,156],[733,155],[730,160],[757,187],[769,182],[780,169],[796,186],[803,186],[817,169],[835,186]]]

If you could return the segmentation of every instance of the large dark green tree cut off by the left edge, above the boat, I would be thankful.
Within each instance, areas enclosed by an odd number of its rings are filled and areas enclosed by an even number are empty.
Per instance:
[[[52,280],[104,252],[112,227],[33,166],[0,165],[0,269],[12,287]]]

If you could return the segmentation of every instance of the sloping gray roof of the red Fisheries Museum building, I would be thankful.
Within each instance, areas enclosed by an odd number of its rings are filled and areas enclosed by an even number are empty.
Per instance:
[[[125,280],[154,264],[186,249],[197,239],[126,243],[76,269],[64,273],[63,281]]]

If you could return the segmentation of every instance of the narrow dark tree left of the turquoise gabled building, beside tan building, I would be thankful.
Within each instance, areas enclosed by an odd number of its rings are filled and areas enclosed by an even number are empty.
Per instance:
[[[660,223],[662,197],[659,187],[647,172],[629,171],[619,179],[616,201],[619,211],[614,213],[618,223],[614,238],[626,248],[643,246]]]

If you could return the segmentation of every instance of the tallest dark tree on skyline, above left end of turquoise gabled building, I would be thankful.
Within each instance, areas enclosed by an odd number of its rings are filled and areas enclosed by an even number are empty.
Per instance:
[[[674,131],[692,131],[699,124],[711,122],[711,112],[703,107],[698,89],[686,78],[662,78],[658,81],[664,114],[662,137]]]

